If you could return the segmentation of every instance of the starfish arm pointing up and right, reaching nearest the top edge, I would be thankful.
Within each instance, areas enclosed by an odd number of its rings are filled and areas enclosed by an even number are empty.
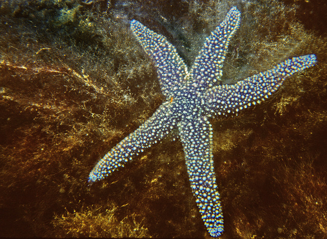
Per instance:
[[[190,71],[192,79],[190,84],[194,88],[204,91],[220,79],[229,41],[240,26],[240,21],[241,13],[234,6],[220,25],[206,38]]]

